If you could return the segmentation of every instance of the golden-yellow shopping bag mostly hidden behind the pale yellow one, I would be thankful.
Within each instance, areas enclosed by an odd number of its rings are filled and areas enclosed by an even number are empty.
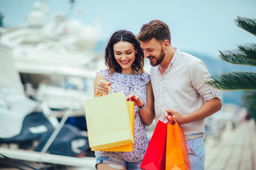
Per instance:
[[[132,126],[132,136],[134,135],[134,101],[127,101],[129,119]],[[112,152],[132,152],[134,149],[134,144],[124,145],[120,147],[113,147],[109,149],[102,149],[101,151],[112,151]]]

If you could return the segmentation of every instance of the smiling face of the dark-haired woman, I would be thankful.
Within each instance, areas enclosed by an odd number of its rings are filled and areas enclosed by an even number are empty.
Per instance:
[[[114,58],[117,63],[122,67],[122,73],[132,74],[132,64],[135,60],[135,49],[132,43],[127,41],[119,41],[114,44]]]

